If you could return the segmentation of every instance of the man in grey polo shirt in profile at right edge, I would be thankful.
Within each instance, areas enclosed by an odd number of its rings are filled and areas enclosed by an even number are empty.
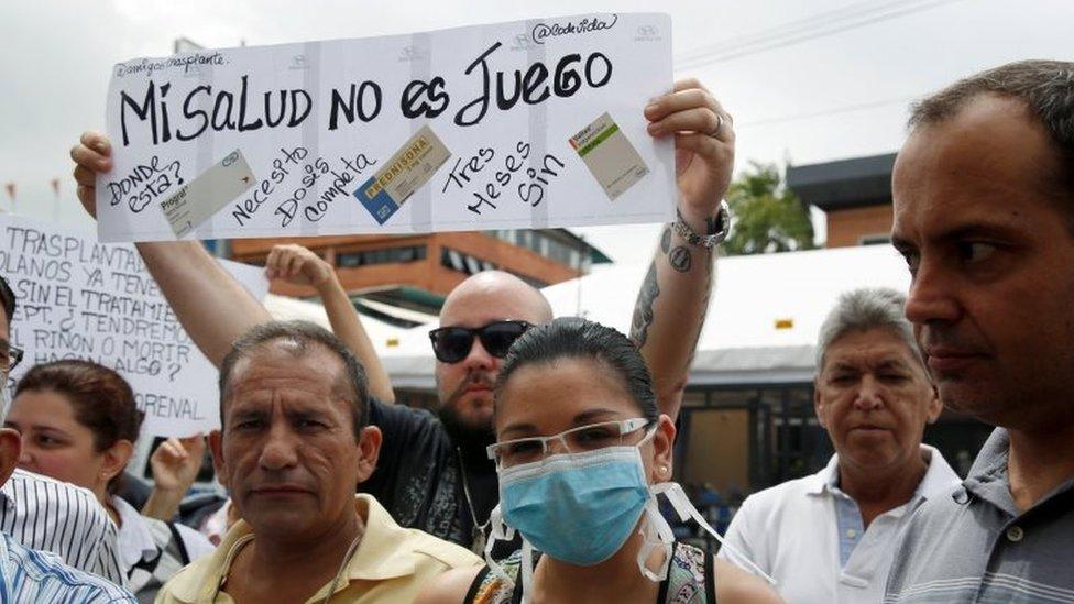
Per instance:
[[[971,76],[910,125],[907,316],[944,404],[997,428],[911,519],[885,602],[1074,602],[1074,63]]]

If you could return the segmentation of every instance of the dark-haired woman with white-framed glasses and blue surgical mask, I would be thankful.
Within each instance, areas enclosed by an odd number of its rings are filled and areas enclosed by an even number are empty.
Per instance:
[[[518,531],[523,549],[450,571],[416,602],[780,602],[760,579],[675,541],[656,495],[700,515],[667,482],[675,426],[622,333],[573,317],[531,328],[500,371],[495,429],[493,537]]]

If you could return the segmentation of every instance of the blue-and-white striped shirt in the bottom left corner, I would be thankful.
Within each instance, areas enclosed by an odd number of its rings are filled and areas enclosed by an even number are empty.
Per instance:
[[[138,603],[127,590],[64,564],[55,553],[24,548],[6,534],[0,534],[0,602]]]

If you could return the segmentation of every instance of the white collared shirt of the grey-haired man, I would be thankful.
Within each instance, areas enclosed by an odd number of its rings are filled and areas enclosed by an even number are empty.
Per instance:
[[[776,579],[789,603],[880,602],[895,549],[913,510],[929,497],[960,483],[940,451],[922,444],[929,469],[910,501],[877,516],[861,536],[840,535],[836,499],[839,455],[820,472],[776,485],[746,498],[724,539]],[[846,564],[841,537],[857,539]],[[719,556],[735,562],[721,549]]]

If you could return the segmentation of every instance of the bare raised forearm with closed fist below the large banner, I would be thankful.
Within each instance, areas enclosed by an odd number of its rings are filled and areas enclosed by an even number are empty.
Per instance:
[[[295,285],[309,286],[317,290],[328,321],[336,336],[351,349],[358,360],[365,367],[369,377],[370,394],[382,403],[394,403],[395,393],[392,391],[392,380],[380,356],[373,349],[362,319],[351,303],[350,296],[339,283],[336,270],[319,255],[302,245],[274,245],[265,262],[268,278],[280,278]]]

